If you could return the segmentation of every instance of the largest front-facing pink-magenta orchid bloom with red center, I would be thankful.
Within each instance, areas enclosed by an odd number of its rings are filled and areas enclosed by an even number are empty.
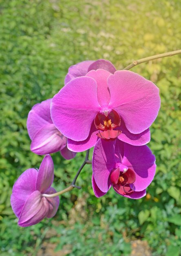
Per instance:
[[[118,137],[135,146],[148,143],[159,108],[159,89],[151,81],[127,70],[112,74],[97,69],[66,83],[51,101],[51,118],[68,138],[68,148],[81,152],[95,146],[99,137]]]

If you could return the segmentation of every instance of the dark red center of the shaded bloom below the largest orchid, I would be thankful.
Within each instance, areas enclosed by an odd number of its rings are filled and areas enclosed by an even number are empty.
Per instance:
[[[130,184],[133,184],[136,180],[135,172],[132,169],[128,168],[128,171],[122,172],[117,169],[114,169],[110,174],[110,181],[114,189],[121,195],[130,195],[134,192],[130,187]]]

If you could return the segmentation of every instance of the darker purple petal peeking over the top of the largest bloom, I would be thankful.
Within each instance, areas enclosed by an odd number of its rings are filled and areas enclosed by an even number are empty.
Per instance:
[[[99,59],[97,61],[94,61],[89,67],[88,67],[88,72],[90,70],[98,70],[98,69],[102,69],[102,70],[107,70],[108,72],[114,74],[114,72],[116,71],[115,66],[107,60],[104,59]]]

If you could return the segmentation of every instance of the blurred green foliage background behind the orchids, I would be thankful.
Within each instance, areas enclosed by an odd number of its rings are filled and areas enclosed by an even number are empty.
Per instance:
[[[137,251],[134,241],[147,241],[152,252],[145,255],[181,255],[179,55],[132,68],[161,95],[149,143],[157,173],[145,198],[129,200],[111,189],[97,199],[89,165],[77,180],[82,189],[61,196],[55,218],[20,228],[10,206],[15,180],[42,161],[30,151],[28,112],[62,88],[70,65],[105,58],[119,70],[179,48],[180,0],[0,0],[1,256],[128,256],[131,245]],[[70,184],[84,155],[71,161],[53,155],[57,190]]]

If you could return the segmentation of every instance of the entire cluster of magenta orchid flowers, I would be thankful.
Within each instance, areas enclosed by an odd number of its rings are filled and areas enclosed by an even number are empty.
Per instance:
[[[145,196],[156,170],[155,156],[146,144],[159,108],[159,89],[139,74],[116,71],[103,59],[69,67],[64,87],[52,99],[33,106],[28,115],[31,151],[45,157],[39,170],[26,170],[13,186],[11,206],[18,224],[34,225],[57,212],[50,154],[58,151],[72,159],[94,147],[96,197],[111,186],[127,198]]]

